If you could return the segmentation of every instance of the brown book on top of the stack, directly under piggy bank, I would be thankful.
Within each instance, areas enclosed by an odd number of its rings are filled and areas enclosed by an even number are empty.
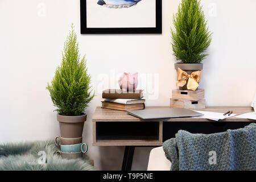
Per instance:
[[[125,98],[125,99],[141,99],[143,90],[135,90],[135,92],[123,91],[121,89],[107,89],[102,92],[102,98]]]

